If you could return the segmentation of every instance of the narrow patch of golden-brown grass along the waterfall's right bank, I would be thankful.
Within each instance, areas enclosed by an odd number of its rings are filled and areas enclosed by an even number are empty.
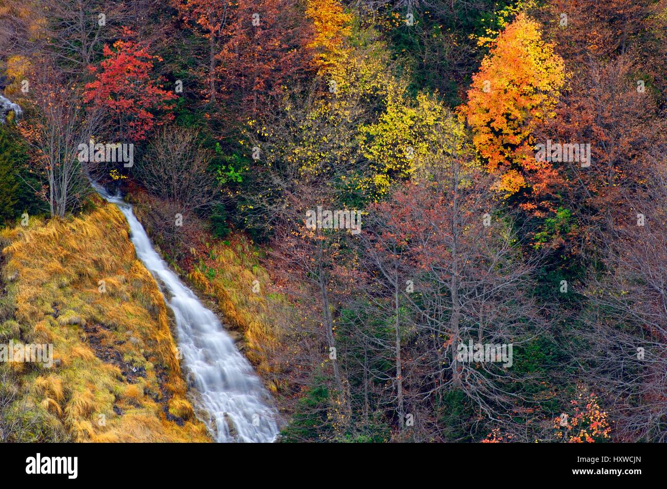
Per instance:
[[[131,192],[135,214],[156,243],[163,203],[135,188]],[[211,298],[223,316],[225,328],[242,334],[243,354],[273,391],[284,385],[281,375],[283,336],[293,328],[293,308],[282,294],[270,293],[271,277],[260,265],[259,248],[243,233],[217,239],[205,223],[188,216],[192,229],[179,235],[177,244],[163,243],[163,258],[199,296]],[[174,258],[177,257],[177,258]],[[259,293],[253,292],[255,280]]]

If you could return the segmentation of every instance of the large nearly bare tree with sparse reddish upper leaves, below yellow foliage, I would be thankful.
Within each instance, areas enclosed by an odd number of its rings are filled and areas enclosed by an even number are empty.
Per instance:
[[[416,438],[438,433],[432,410],[424,406],[448,392],[462,392],[484,419],[508,430],[520,428],[512,420],[520,406],[535,404],[516,388],[520,379],[511,358],[460,358],[461,345],[469,342],[518,349],[540,334],[544,322],[528,294],[539,257],[524,257],[514,222],[491,190],[492,175],[458,147],[434,148],[426,175],[372,207],[364,232],[360,263],[373,284],[367,312],[372,308],[374,317],[384,318],[380,324],[391,319],[395,336],[392,345],[378,330],[362,328],[360,336],[371,348],[394,351],[396,410],[403,410],[408,386],[412,414],[417,410],[426,418],[413,420],[421,430]],[[407,365],[404,358],[410,359]],[[369,377],[387,375],[376,371]]]

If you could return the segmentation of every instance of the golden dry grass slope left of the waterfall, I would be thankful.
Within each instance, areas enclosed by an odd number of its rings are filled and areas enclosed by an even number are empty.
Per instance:
[[[38,416],[44,432],[61,426],[73,441],[209,441],[186,398],[157,284],[136,259],[120,211],[95,203],[81,217],[31,219],[0,233],[0,340],[50,342],[56,361],[1,368],[14,370],[21,400],[33,406],[26,416]],[[166,419],[167,408],[183,426]]]

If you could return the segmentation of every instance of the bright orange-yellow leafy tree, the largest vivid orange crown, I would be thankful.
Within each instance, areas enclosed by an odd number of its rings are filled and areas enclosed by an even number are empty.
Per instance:
[[[496,189],[506,196],[522,187],[540,192],[558,179],[548,161],[537,161],[533,133],[552,117],[564,85],[563,60],[542,40],[540,25],[520,14],[492,41],[460,107]]]

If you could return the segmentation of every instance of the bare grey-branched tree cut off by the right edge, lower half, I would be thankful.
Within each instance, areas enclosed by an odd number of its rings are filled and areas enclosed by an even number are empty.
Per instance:
[[[658,158],[590,270],[590,307],[572,344],[622,442],[667,441],[667,168]]]

